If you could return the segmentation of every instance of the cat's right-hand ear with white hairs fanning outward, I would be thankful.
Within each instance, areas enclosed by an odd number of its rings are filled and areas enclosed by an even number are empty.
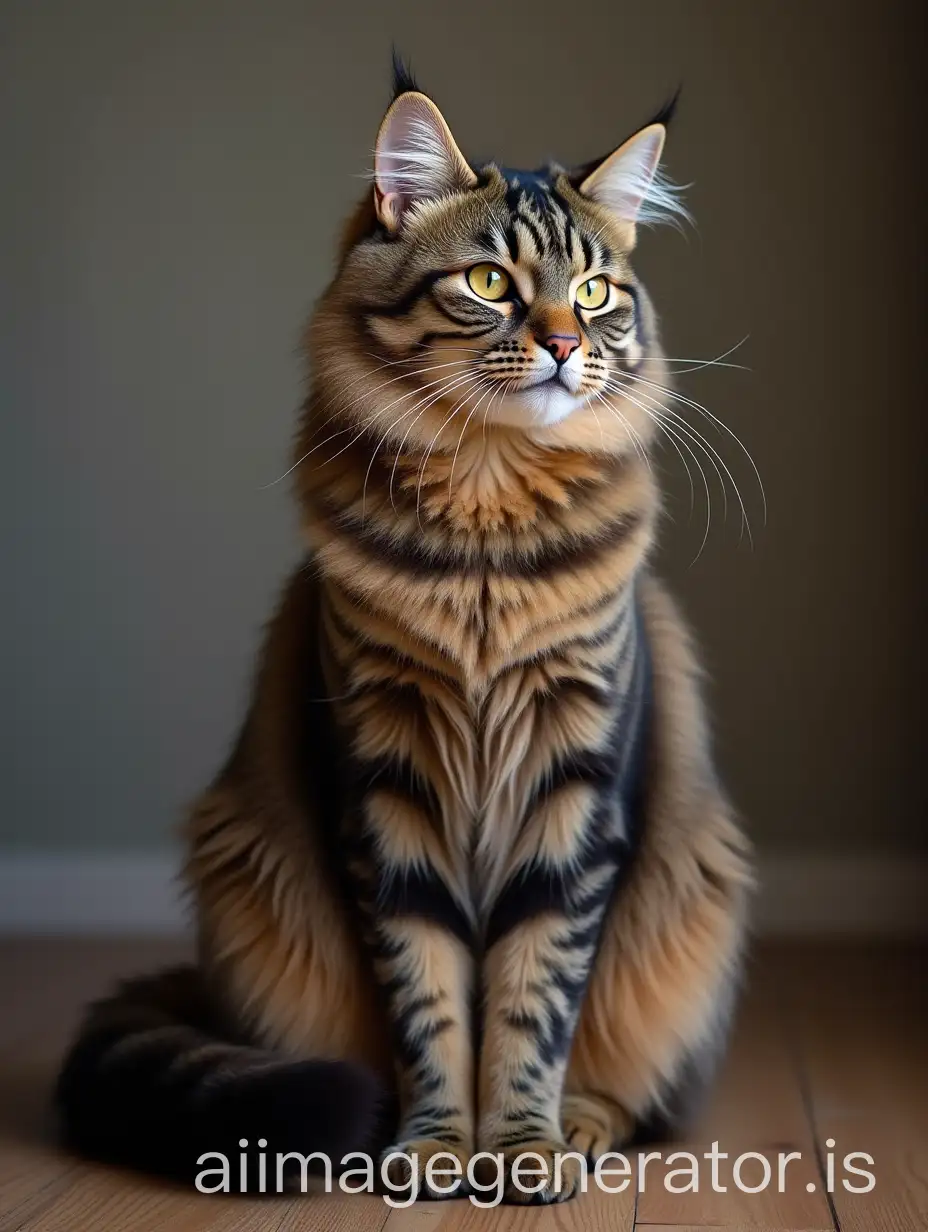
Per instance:
[[[648,124],[601,161],[576,172],[574,187],[632,228],[689,217],[679,190],[659,171],[665,138],[663,123]]]

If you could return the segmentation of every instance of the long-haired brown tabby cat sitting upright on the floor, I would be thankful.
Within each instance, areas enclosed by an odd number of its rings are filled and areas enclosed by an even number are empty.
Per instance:
[[[749,871],[648,563],[668,377],[630,255],[674,207],[667,118],[576,171],[472,166],[398,71],[307,336],[306,561],[189,823],[198,962],[91,1009],[78,1148],[421,1177],[596,1157],[705,1087]]]

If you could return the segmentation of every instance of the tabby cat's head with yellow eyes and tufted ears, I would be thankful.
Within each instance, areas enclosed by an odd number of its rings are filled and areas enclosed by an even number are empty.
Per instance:
[[[646,398],[622,393],[659,363],[630,254],[638,225],[684,212],[658,171],[668,118],[577,170],[477,166],[398,71],[373,192],[317,317],[327,392],[354,388],[359,415],[410,442],[434,440],[439,421],[457,432],[467,415],[542,436],[562,425],[561,441],[568,424],[588,440],[648,439]]]

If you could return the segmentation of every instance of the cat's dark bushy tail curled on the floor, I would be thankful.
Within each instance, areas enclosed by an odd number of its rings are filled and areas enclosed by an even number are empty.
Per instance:
[[[246,1140],[339,1161],[371,1151],[383,1093],[346,1061],[295,1061],[223,1037],[195,967],[127,981],[88,1011],[55,1101],[75,1151],[190,1179],[207,1152],[238,1161]],[[265,1149],[260,1147],[260,1149]],[[272,1178],[269,1177],[269,1185]],[[234,1188],[239,1188],[235,1184]]]

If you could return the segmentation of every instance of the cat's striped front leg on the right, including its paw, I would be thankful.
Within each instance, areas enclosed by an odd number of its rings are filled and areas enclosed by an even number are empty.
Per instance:
[[[615,871],[608,839],[589,843],[582,859],[534,860],[513,873],[490,917],[477,1145],[481,1153],[502,1156],[510,1202],[563,1201],[580,1181],[583,1165],[564,1140],[561,1108]],[[541,1162],[527,1158],[516,1173],[523,1154]],[[478,1161],[477,1179],[488,1180],[497,1167]]]

